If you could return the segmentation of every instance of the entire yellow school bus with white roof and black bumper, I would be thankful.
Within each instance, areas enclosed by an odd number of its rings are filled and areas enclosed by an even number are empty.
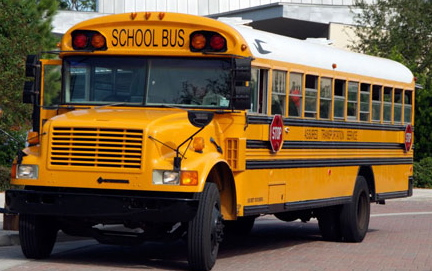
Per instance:
[[[184,238],[210,270],[261,215],[361,242],[371,202],[412,194],[415,82],[394,61],[159,12],[84,21],[55,53],[27,59],[33,130],[6,192],[28,258],[59,230]]]

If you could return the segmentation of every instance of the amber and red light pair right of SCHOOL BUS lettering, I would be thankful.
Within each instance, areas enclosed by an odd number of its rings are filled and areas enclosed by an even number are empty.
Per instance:
[[[190,35],[192,52],[225,52],[227,41],[219,33],[213,31],[195,31]]]

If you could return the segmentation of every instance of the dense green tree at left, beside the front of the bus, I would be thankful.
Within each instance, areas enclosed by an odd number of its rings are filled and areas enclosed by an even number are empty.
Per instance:
[[[51,33],[56,0],[0,0],[0,129],[22,138],[30,128],[31,105],[22,103],[28,54],[55,48]],[[10,164],[20,144],[0,131],[0,165]],[[11,157],[12,156],[12,157]]]

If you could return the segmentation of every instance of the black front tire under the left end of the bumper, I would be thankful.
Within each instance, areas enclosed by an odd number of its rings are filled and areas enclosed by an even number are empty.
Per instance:
[[[44,259],[51,255],[57,239],[56,222],[46,216],[19,216],[19,237],[21,249],[29,259]]]

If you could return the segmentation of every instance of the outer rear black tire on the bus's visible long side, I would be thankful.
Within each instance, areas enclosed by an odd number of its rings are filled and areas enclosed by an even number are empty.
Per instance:
[[[370,195],[363,176],[357,177],[352,201],[342,206],[341,235],[344,242],[361,242],[369,228]]]

